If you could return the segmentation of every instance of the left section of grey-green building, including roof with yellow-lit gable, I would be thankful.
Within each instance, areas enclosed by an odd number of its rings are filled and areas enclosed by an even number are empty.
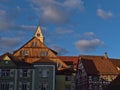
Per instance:
[[[0,57],[0,90],[32,90],[33,66],[6,53]]]

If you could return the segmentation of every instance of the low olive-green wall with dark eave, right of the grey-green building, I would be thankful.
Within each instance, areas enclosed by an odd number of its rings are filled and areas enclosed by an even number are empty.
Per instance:
[[[56,90],[75,90],[75,71],[73,69],[57,71]]]

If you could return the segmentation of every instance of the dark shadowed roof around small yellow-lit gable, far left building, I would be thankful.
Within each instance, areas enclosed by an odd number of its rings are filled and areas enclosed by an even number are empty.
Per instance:
[[[4,58],[8,56],[11,61],[16,65],[17,68],[32,68],[32,64],[26,63],[24,61],[19,60],[17,57],[13,56],[10,53],[5,53],[0,56],[0,61],[4,60]]]

